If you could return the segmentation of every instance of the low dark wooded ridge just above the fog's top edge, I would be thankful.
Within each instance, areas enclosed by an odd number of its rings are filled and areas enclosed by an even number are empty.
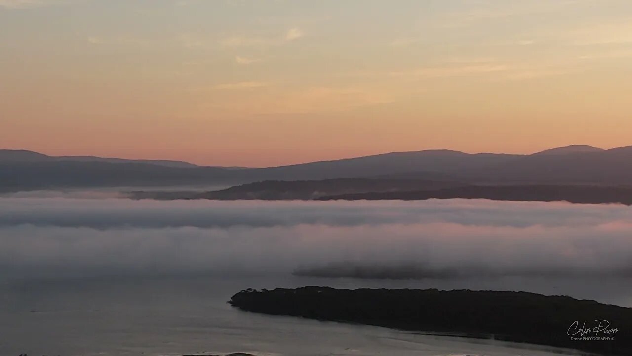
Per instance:
[[[458,182],[330,179],[264,181],[209,192],[133,191],[132,199],[154,200],[429,200],[566,201],[632,205],[629,186],[465,186]]]

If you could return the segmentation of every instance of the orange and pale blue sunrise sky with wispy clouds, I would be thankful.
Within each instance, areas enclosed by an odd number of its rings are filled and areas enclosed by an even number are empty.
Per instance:
[[[0,146],[264,167],[632,139],[629,0],[0,0]]]

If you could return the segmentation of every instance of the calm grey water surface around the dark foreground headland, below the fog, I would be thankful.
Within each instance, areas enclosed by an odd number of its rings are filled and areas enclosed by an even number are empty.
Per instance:
[[[0,287],[0,355],[578,355],[493,340],[425,336],[381,327],[251,314],[226,301],[244,288],[520,289],[632,306],[622,281],[489,279],[365,281],[215,277],[8,283]],[[564,330],[551,332],[565,333]]]

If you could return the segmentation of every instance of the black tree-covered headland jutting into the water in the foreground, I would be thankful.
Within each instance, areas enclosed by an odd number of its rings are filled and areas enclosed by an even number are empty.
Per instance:
[[[632,355],[632,308],[569,296],[466,289],[350,290],[310,286],[246,289],[233,295],[229,303],[262,314],[495,338],[598,355]]]

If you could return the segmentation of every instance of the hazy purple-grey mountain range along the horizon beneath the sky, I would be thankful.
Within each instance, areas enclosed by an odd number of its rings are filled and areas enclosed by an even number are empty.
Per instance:
[[[494,185],[623,186],[632,185],[630,162],[632,146],[607,150],[568,146],[533,155],[427,150],[269,168],[202,167],[169,160],[47,156],[33,151],[5,149],[0,150],[0,191],[117,186],[234,186],[260,181],[351,178]]]

